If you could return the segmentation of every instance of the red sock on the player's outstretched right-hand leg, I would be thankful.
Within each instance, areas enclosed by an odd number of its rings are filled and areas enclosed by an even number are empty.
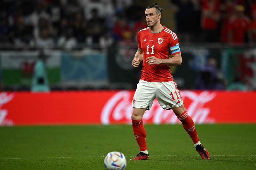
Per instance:
[[[188,115],[187,111],[183,112],[181,115],[177,116],[178,119],[182,122],[183,128],[188,132],[191,137],[193,143],[197,143],[199,141],[198,135],[196,132],[195,124],[193,119]]]

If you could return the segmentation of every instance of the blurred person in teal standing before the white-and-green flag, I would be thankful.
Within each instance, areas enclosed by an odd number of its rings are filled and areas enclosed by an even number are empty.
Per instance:
[[[32,92],[49,92],[49,84],[48,78],[46,74],[46,66],[45,62],[47,60],[47,56],[44,53],[40,53],[38,56],[38,60],[34,67],[34,76],[32,80]]]

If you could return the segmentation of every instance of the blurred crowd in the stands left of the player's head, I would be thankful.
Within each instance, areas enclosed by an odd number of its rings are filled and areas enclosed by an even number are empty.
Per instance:
[[[147,24],[143,1],[0,0],[0,43],[16,47],[72,49],[77,44],[106,47],[132,39]],[[130,24],[127,24],[130,20]]]

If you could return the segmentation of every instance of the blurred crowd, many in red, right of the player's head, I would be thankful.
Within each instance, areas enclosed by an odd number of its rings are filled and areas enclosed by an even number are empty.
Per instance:
[[[172,0],[177,31],[184,41],[253,44],[255,0]],[[191,36],[194,33],[195,36]]]

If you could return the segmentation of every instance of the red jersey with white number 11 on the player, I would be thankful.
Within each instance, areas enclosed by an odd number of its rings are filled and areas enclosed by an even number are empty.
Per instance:
[[[170,55],[180,53],[177,35],[164,26],[158,33],[151,33],[148,28],[142,29],[137,34],[138,48],[143,50],[143,63],[141,80],[150,82],[173,81],[170,66],[148,65],[146,58],[170,58]]]

